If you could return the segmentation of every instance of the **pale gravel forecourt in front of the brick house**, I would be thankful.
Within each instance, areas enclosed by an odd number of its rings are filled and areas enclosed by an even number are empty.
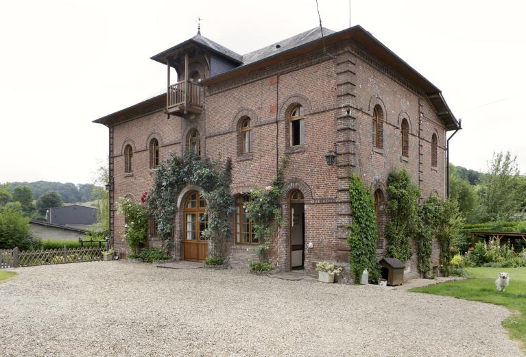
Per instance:
[[[126,262],[16,270],[1,356],[524,356],[505,308],[450,297]]]

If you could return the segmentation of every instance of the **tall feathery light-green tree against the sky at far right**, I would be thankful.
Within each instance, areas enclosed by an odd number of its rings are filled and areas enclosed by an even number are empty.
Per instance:
[[[483,180],[481,203],[490,221],[510,219],[518,212],[518,167],[516,156],[510,151],[493,153],[488,165],[488,174]]]

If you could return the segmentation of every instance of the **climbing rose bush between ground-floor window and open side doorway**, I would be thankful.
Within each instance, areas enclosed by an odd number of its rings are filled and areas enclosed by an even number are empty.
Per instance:
[[[254,187],[250,192],[250,201],[246,203],[246,217],[252,221],[254,237],[259,242],[256,252],[261,260],[266,260],[266,252],[276,227],[283,225],[283,217],[280,210],[280,198],[283,194],[283,170],[287,164],[287,156],[283,158],[276,178],[272,185],[265,188]]]

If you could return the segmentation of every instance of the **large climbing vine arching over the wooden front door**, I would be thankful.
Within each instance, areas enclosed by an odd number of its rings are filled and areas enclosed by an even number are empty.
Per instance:
[[[230,236],[230,217],[234,212],[234,201],[230,195],[232,162],[227,160],[222,167],[219,162],[201,160],[188,151],[183,156],[175,153],[156,171],[154,186],[148,197],[148,209],[157,222],[158,234],[171,245],[171,232],[177,211],[177,198],[187,184],[200,186],[206,199],[208,228],[202,232],[212,241],[211,256],[226,254],[226,239]]]

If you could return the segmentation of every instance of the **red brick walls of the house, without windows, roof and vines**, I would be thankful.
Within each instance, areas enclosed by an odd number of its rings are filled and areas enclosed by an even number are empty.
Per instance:
[[[152,184],[148,169],[147,140],[157,133],[161,160],[170,151],[182,152],[189,130],[196,128],[202,137],[202,155],[222,160],[232,158],[232,194],[247,192],[251,186],[266,186],[276,175],[276,162],[285,153],[286,193],[283,195],[285,225],[277,232],[270,251],[272,262],[289,269],[288,193],[300,189],[305,198],[305,243],[313,248],[305,253],[305,267],[315,262],[348,261],[346,225],[350,223],[347,184],[351,173],[360,175],[371,187],[385,194],[387,175],[405,167],[422,190],[422,199],[436,191],[445,195],[444,125],[424,95],[377,60],[352,44],[328,49],[326,54],[306,53],[204,90],[204,111],[191,119],[156,112],[115,126],[115,197],[131,194],[139,199]],[[287,109],[300,103],[305,110],[305,143],[289,147]],[[371,142],[372,110],[383,109],[383,147]],[[253,127],[253,151],[239,151],[239,119],[249,115]],[[409,122],[409,157],[401,158],[401,121]],[[431,135],[438,135],[438,167],[431,167]],[[276,139],[277,138],[277,139]],[[134,173],[124,175],[121,151],[125,143],[134,145]],[[337,144],[337,164],[328,166],[324,154]],[[385,196],[386,197],[386,196]],[[180,259],[182,216],[175,219],[173,254]],[[121,240],[123,218],[115,219],[115,246],[127,251]],[[385,214],[381,217],[381,232]],[[233,225],[233,222],[232,222]],[[233,228],[233,226],[232,226]],[[160,242],[150,244],[159,245]],[[382,256],[385,244],[379,243]],[[433,262],[438,250],[433,251]],[[230,263],[243,267],[258,257],[246,245],[230,244]],[[411,273],[416,262],[411,260]]]

